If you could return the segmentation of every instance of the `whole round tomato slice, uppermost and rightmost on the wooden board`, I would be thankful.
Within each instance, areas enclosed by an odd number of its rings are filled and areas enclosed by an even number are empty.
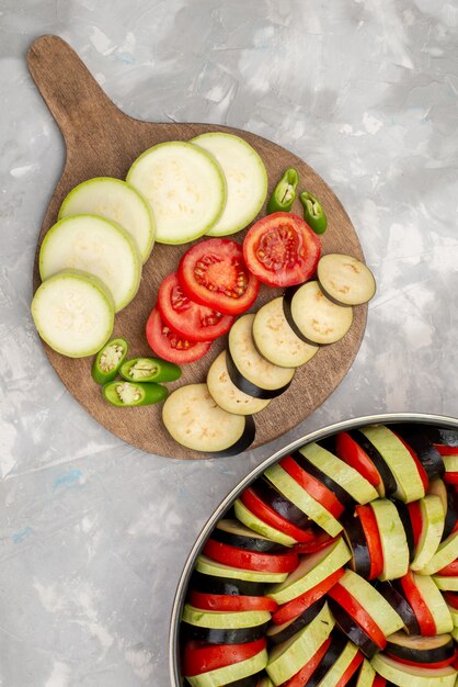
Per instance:
[[[321,256],[321,244],[309,225],[289,212],[259,219],[243,241],[251,272],[270,286],[293,286],[310,279]]]

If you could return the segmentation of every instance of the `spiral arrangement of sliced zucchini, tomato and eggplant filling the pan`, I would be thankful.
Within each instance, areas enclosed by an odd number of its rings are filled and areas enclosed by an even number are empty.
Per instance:
[[[185,679],[455,686],[458,495],[443,476],[457,444],[458,431],[365,426],[267,468],[197,558]]]

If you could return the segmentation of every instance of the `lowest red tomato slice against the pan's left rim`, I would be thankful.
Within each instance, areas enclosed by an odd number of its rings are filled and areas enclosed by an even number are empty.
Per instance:
[[[248,644],[207,644],[205,642],[186,642],[184,645],[183,672],[193,677],[208,671],[222,668],[247,661],[261,653],[267,645],[265,638]]]

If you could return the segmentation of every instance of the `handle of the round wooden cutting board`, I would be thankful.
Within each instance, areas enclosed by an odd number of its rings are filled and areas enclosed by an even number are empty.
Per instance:
[[[36,38],[27,53],[31,75],[62,133],[67,153],[81,146],[92,155],[116,147],[125,115],[103,92],[76,52],[60,38]]]

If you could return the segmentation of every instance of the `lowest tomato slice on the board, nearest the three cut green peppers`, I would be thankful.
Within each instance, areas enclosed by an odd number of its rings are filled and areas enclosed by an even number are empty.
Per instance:
[[[208,352],[211,341],[193,341],[181,337],[162,322],[157,307],[153,307],[147,322],[148,344],[159,358],[181,365],[198,360]]]

